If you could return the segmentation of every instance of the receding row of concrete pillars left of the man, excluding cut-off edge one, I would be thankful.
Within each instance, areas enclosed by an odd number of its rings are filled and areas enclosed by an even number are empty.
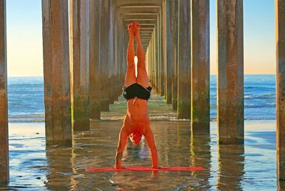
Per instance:
[[[46,145],[71,145],[121,94],[113,1],[42,1]],[[70,37],[68,37],[70,34]],[[122,57],[120,57],[122,58]]]

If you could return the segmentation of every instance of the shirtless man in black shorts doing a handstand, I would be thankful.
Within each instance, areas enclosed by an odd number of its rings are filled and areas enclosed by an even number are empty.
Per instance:
[[[118,148],[115,159],[115,168],[123,168],[121,160],[128,136],[135,145],[140,143],[142,135],[145,136],[147,146],[152,155],[152,168],[157,166],[157,150],[155,139],[150,129],[150,119],[147,114],[147,99],[150,98],[151,87],[148,84],[147,71],[145,70],[145,53],[140,41],[140,23],[129,23],[129,43],[127,52],[127,73],[123,95],[128,101],[128,110],[123,126],[120,129]],[[137,40],[138,77],[135,77],[135,50],[134,40]]]

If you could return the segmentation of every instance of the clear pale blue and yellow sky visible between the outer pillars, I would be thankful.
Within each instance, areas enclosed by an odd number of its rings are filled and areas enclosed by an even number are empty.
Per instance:
[[[210,70],[217,73],[216,0],[210,1]],[[41,0],[6,0],[9,76],[43,76]],[[274,74],[274,0],[244,0],[244,73]]]

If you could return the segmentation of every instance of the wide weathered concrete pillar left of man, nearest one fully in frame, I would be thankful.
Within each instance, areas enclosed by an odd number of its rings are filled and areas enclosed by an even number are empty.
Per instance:
[[[68,0],[42,0],[46,146],[71,146]]]

